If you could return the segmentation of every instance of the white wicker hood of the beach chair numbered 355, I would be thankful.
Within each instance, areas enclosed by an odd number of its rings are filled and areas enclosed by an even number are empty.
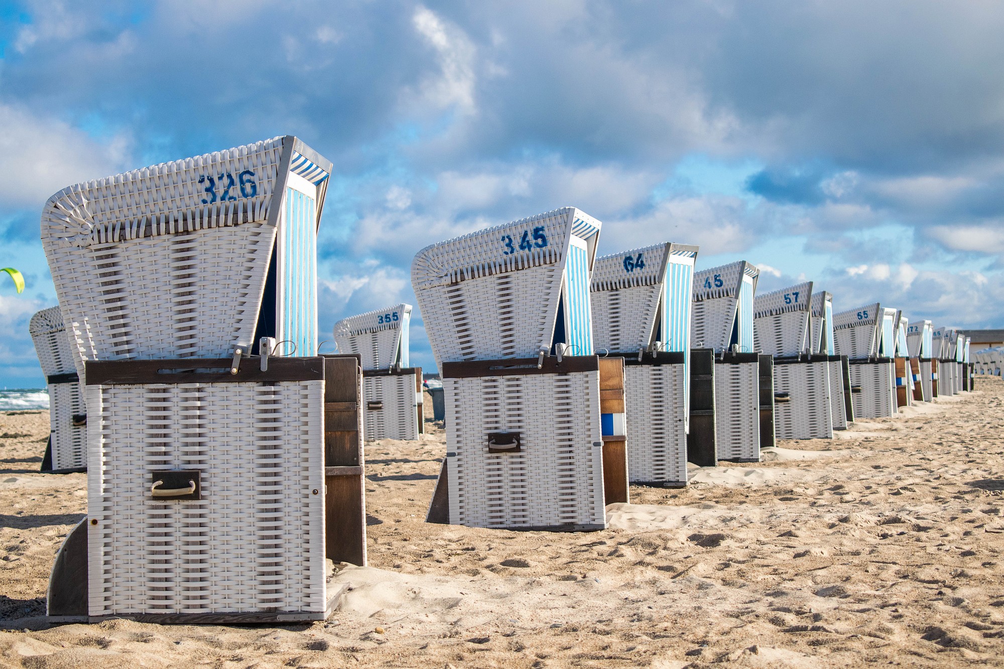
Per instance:
[[[339,353],[360,356],[363,370],[408,367],[411,319],[411,304],[366,311],[334,323],[334,342]]]

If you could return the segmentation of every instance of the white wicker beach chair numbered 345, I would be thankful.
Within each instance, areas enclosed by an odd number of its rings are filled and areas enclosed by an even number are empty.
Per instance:
[[[599,529],[628,501],[622,359],[593,355],[599,229],[566,207],[415,256],[446,403],[430,522]]]

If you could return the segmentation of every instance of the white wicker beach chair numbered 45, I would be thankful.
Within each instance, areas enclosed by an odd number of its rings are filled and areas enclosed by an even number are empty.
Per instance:
[[[721,460],[760,459],[760,359],[753,345],[759,274],[746,261],[694,274],[691,346],[715,351],[715,440]]]

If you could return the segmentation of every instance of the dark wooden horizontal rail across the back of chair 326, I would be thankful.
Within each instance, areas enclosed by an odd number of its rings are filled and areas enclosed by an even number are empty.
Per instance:
[[[137,384],[226,384],[320,381],[324,378],[321,358],[269,358],[268,371],[261,371],[257,358],[242,358],[237,374],[230,374],[229,358],[182,358],[172,360],[87,361],[88,386],[134,386]],[[161,374],[161,370],[193,370]],[[195,372],[194,370],[218,370]]]

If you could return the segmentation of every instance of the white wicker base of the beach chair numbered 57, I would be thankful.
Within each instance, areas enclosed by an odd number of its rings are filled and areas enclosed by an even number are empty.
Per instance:
[[[836,363],[838,366],[839,363]],[[774,405],[778,439],[832,439],[829,363],[774,366],[774,392],[788,393],[788,402]]]

